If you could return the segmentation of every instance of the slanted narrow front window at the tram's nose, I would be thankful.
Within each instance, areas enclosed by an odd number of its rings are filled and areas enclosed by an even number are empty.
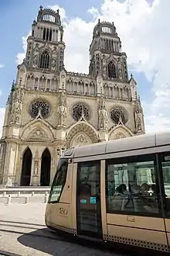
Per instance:
[[[53,185],[49,194],[49,202],[58,202],[66,183],[66,173],[68,168],[68,160],[60,159],[56,175],[53,179]]]

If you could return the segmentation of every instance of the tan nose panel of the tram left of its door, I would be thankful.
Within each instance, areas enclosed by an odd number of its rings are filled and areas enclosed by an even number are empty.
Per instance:
[[[59,202],[50,202],[46,206],[46,225],[58,230],[73,233],[72,229],[72,177],[73,164],[68,164],[66,182]],[[53,188],[52,188],[53,189]]]

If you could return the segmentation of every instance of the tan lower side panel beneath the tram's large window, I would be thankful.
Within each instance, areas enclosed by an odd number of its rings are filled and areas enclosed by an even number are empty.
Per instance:
[[[107,229],[110,241],[168,252],[162,219],[107,214]]]

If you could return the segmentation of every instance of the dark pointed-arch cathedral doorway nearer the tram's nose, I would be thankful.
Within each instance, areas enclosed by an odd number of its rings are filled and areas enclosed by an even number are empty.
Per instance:
[[[42,153],[41,158],[41,177],[40,185],[49,186],[50,183],[50,170],[51,170],[51,154],[48,148],[46,148]]]

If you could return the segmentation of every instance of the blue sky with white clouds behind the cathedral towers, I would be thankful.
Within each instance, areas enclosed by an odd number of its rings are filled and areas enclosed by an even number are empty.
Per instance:
[[[93,26],[99,18],[114,22],[129,74],[138,84],[146,133],[170,129],[169,0],[1,0],[0,137],[6,100],[39,5],[60,10],[67,71],[88,72]]]

